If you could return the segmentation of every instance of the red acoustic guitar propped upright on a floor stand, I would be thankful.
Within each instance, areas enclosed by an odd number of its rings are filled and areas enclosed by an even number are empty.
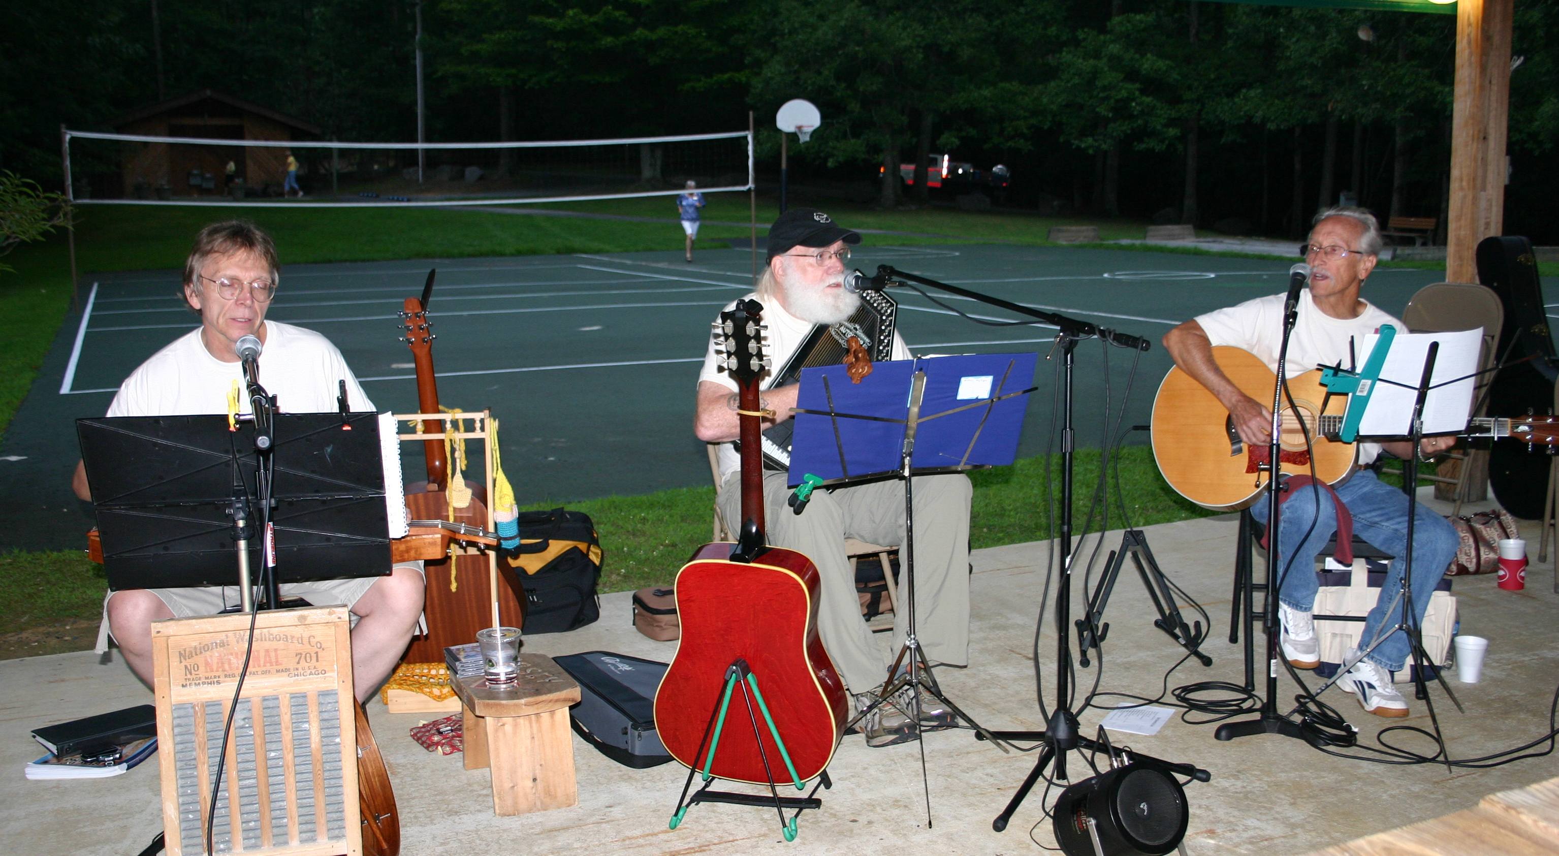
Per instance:
[[[828,767],[847,702],[817,638],[817,568],[764,544],[761,310],[742,301],[720,313],[726,368],[741,385],[742,527],[736,544],[705,544],[677,574],[681,641],[655,694],[655,727],[681,764],[769,784],[808,781]],[[756,684],[751,716],[748,688],[736,681]]]

